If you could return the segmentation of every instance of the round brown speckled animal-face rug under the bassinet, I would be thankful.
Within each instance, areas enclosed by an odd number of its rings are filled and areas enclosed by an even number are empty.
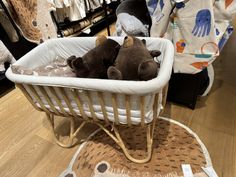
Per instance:
[[[138,127],[120,128],[129,152],[136,158],[146,155],[146,133]],[[211,166],[206,147],[188,127],[160,117],[156,123],[153,154],[148,163],[129,161],[103,131],[94,132],[75,153],[60,177],[180,177],[182,164],[190,164],[194,176],[205,177],[202,167]]]

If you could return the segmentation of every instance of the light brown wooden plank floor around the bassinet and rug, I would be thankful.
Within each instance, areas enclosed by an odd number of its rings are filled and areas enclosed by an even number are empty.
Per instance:
[[[236,33],[214,62],[210,94],[195,110],[168,103],[164,116],[195,131],[206,145],[219,177],[236,177]],[[64,125],[58,125],[62,129]],[[84,130],[86,138],[96,127]],[[60,130],[59,130],[60,131]],[[0,98],[0,177],[56,177],[78,146],[56,145],[44,113],[15,89]]]

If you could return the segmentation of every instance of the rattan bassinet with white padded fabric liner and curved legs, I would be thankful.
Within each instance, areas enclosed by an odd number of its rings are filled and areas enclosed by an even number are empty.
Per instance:
[[[112,37],[120,44],[123,38]],[[12,73],[8,69],[6,76],[23,91],[32,105],[47,114],[54,131],[54,115],[68,117],[71,120],[70,143],[88,122],[101,127],[124,151],[126,157],[136,163],[150,160],[155,120],[159,116],[166,99],[170,79],[174,49],[170,41],[160,38],[144,38],[149,50],[160,50],[161,68],[158,76],[150,81],[118,81],[106,79],[87,79],[72,77],[29,76]],[[20,58],[15,64],[28,68],[45,65],[57,56],[67,58],[71,55],[82,56],[95,47],[95,37],[52,39],[40,44]],[[75,120],[83,123],[75,127]],[[106,126],[112,126],[114,132]],[[134,159],[128,153],[117,129],[118,126],[142,126],[147,132],[148,156]]]

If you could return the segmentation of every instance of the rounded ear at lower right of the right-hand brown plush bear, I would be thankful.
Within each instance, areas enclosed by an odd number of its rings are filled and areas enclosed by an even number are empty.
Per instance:
[[[140,63],[138,67],[139,80],[150,80],[157,76],[158,64],[154,60],[147,60]]]

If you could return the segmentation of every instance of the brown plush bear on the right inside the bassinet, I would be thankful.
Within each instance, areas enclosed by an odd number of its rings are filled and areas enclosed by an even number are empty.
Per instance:
[[[126,36],[115,65],[108,68],[108,78],[141,81],[153,79],[160,68],[160,64],[153,58],[160,54],[158,50],[148,51],[144,39]]]

